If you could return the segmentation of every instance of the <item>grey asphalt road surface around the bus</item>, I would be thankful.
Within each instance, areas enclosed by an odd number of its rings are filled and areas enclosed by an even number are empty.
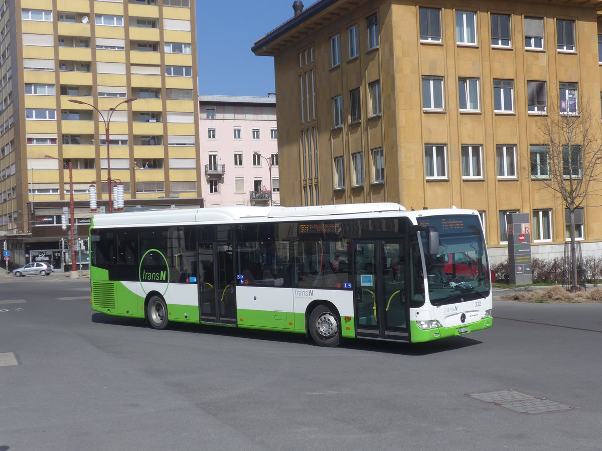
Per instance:
[[[0,451],[602,449],[602,304],[496,299],[490,330],[328,349],[150,330],[88,296],[86,279],[0,277]],[[575,408],[466,396],[504,390]]]

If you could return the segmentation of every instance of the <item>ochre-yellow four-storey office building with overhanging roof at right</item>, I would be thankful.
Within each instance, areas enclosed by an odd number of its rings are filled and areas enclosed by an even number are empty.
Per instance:
[[[283,205],[476,209],[494,260],[528,212],[533,254],[562,256],[566,210],[531,162],[551,106],[600,117],[601,1],[299,3],[252,48],[275,59]],[[600,201],[577,213],[595,254]]]

